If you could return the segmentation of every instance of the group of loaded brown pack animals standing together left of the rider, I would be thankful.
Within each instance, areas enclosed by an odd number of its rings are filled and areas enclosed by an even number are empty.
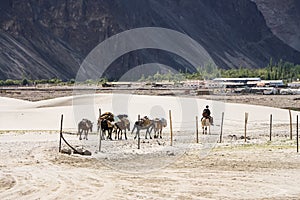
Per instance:
[[[146,130],[145,139],[149,135],[150,139],[151,132],[154,131],[154,138],[162,138],[162,129],[167,126],[167,120],[164,118],[149,119],[147,116],[139,119],[134,123],[131,133],[136,130],[136,135],[134,139],[139,135],[140,130]],[[122,135],[124,135],[127,140],[126,131],[130,131],[130,121],[128,120],[128,115],[121,114],[115,116],[111,112],[103,113],[99,116],[97,121],[97,132],[101,129],[101,139],[112,140],[112,134],[115,133],[115,140],[122,140]],[[78,123],[78,134],[79,140],[82,140],[82,133],[84,133],[83,139],[88,139],[89,131],[92,132],[93,123],[88,119],[82,119]]]

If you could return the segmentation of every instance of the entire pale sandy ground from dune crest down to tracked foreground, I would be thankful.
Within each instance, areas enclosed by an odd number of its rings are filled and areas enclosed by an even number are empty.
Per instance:
[[[290,141],[287,110],[180,97],[82,95],[39,102],[0,98],[0,199],[297,199],[300,156]],[[211,135],[195,143],[195,116],[210,105],[215,118]],[[64,134],[92,156],[58,153],[60,116],[64,130],[76,133],[79,120],[96,122],[102,112],[169,119],[163,139],[144,139],[137,149],[128,140],[102,141],[94,132],[88,141]],[[217,144],[225,112],[224,143]],[[249,113],[251,140],[243,135]],[[273,114],[273,143],[267,143]],[[292,112],[293,120],[299,112]],[[168,121],[169,122],[169,121]],[[52,131],[51,131],[52,130]],[[276,135],[277,134],[277,135]],[[67,146],[63,144],[63,148]]]

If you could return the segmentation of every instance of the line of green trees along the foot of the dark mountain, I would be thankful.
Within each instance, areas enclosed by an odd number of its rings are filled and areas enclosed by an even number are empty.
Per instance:
[[[264,68],[249,69],[240,67],[237,69],[219,69],[212,63],[206,64],[204,67],[199,67],[194,73],[183,73],[183,72],[167,72],[161,74],[157,72],[154,75],[145,76],[142,75],[139,81],[141,82],[153,82],[153,81],[174,81],[180,82],[183,80],[211,80],[213,78],[245,78],[245,77],[259,77],[263,80],[283,80],[285,82],[292,82],[300,80],[300,65],[293,64],[290,62],[273,62],[270,59],[269,64]],[[99,78],[98,80],[86,80],[82,84],[102,84],[107,82],[106,78]],[[56,84],[56,85],[72,85],[75,83],[74,79],[68,81],[62,81],[58,78],[52,79],[41,79],[41,80],[30,80],[23,78],[21,80],[0,80],[0,86],[26,86],[34,84]],[[79,83],[81,84],[81,83]]]

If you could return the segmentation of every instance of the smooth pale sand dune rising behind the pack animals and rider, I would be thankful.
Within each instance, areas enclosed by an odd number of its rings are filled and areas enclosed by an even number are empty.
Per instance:
[[[76,129],[82,118],[96,122],[99,108],[102,112],[126,113],[131,122],[137,120],[138,115],[169,119],[171,110],[173,121],[178,124],[179,129],[184,124],[186,128],[194,126],[195,116],[200,117],[205,105],[210,105],[217,123],[220,122],[222,112],[225,112],[225,123],[243,122],[245,112],[249,113],[249,121],[267,122],[270,114],[273,114],[274,120],[289,120],[288,111],[283,109],[181,97],[98,94],[38,102],[1,97],[0,102],[1,130],[58,130],[62,114],[65,116],[64,127]],[[295,118],[297,112],[292,114]]]

